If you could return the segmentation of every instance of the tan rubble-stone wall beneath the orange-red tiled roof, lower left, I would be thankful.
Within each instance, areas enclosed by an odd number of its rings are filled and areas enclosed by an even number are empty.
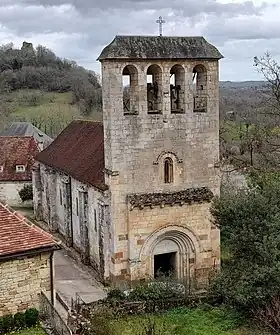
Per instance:
[[[50,253],[0,263],[0,316],[38,308],[51,290]]]

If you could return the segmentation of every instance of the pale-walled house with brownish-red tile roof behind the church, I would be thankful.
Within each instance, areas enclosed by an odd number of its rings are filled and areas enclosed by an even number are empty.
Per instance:
[[[31,169],[38,152],[33,136],[0,136],[0,201],[30,205],[22,201],[19,191],[32,184]]]

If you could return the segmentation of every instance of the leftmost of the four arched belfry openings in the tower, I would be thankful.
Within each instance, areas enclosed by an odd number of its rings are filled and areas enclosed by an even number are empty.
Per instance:
[[[135,66],[127,65],[123,69],[123,111],[124,114],[138,113],[138,72]]]

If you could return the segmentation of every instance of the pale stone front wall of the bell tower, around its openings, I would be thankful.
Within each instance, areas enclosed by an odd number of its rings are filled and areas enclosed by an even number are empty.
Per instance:
[[[138,110],[135,115],[125,115],[123,111],[122,71],[128,64],[138,72]],[[149,114],[147,111],[146,73],[152,64],[158,65],[162,71],[161,114]],[[170,69],[175,64],[184,68],[184,113],[181,114],[171,113],[170,109]],[[193,111],[193,68],[199,64],[207,70],[206,113]],[[176,221],[191,226],[198,239],[200,235],[205,235],[203,243],[209,248],[208,254],[202,258],[211,258],[213,250],[218,259],[219,234],[211,232],[208,204],[207,207],[201,205],[201,210],[190,206],[202,213],[198,219],[198,213],[187,205],[130,212],[127,203],[129,194],[175,192],[191,187],[208,187],[214,194],[219,194],[219,169],[216,166],[219,160],[218,62],[103,61],[102,87],[106,183],[111,191],[114,229],[111,276],[133,273],[128,258],[137,240],[141,240],[137,237],[138,231],[148,235],[159,226]],[[174,162],[174,181],[170,184],[165,184],[163,178],[166,157]],[[207,260],[207,263],[212,264],[212,260]]]

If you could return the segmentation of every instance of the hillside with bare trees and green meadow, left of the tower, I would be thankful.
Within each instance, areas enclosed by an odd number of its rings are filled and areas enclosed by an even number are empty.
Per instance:
[[[99,76],[51,50],[23,42],[0,47],[0,127],[31,121],[55,137],[77,117],[101,117]]]

